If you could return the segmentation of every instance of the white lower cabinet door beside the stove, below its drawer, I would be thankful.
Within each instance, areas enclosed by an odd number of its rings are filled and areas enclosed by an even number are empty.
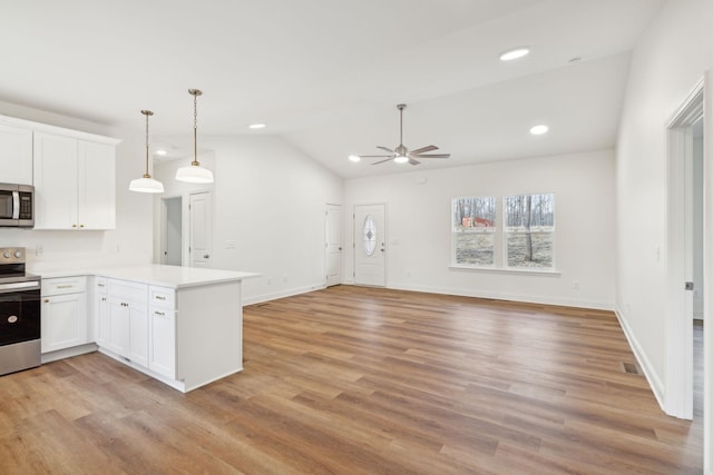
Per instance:
[[[87,295],[53,295],[42,298],[41,352],[84,345],[87,340]]]

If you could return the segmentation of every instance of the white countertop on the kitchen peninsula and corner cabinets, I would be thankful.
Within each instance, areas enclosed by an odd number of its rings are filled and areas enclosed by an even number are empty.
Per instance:
[[[57,269],[35,269],[30,273],[42,278],[71,277],[71,276],[102,276],[114,279],[131,280],[141,284],[157,285],[163,287],[182,288],[195,287],[212,284],[229,283],[257,277],[258,274],[242,273],[237,270],[203,269],[197,267],[164,266],[149,264],[130,267],[105,267],[105,268],[57,268]]]

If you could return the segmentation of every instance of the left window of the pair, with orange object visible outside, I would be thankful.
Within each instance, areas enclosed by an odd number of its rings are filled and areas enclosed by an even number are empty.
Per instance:
[[[495,266],[495,198],[455,198],[452,215],[455,265],[467,267]]]

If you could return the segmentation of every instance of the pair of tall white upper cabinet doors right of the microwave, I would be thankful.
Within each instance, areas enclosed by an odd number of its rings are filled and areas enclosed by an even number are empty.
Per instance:
[[[33,136],[35,229],[114,229],[116,147]]]

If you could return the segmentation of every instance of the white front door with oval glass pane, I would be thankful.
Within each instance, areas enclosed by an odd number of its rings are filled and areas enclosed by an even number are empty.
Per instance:
[[[385,205],[354,206],[354,284],[385,287]]]

